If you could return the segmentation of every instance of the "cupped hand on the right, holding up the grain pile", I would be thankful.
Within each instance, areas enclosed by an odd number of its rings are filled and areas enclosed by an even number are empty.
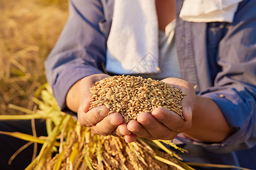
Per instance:
[[[131,120],[127,124],[127,129],[138,137],[170,140],[191,128],[192,113],[196,108],[196,94],[193,86],[177,78],[166,78],[162,81],[179,88],[186,94],[181,100],[184,120],[177,113],[165,108],[155,108],[151,114],[143,112],[139,114],[137,120]]]

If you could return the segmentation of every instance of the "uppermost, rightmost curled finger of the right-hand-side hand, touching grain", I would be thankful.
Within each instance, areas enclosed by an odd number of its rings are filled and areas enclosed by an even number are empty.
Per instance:
[[[158,122],[177,133],[188,130],[189,125],[191,125],[190,122],[183,120],[179,114],[171,112],[165,108],[155,108],[151,114],[158,120]]]

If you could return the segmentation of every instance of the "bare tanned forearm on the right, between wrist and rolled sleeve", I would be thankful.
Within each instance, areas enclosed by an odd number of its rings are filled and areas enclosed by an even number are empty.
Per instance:
[[[184,134],[203,142],[221,142],[232,133],[220,108],[213,100],[196,96],[192,127]]]

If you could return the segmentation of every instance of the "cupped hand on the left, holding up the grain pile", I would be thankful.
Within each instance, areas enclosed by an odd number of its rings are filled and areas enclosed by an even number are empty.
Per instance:
[[[127,124],[123,123],[123,118],[119,113],[108,115],[109,109],[105,105],[90,109],[89,88],[98,80],[108,77],[107,74],[94,74],[86,76],[80,82],[80,106],[77,112],[79,123],[89,127],[98,135],[114,135],[124,137],[126,142],[133,142],[136,135],[127,129]]]

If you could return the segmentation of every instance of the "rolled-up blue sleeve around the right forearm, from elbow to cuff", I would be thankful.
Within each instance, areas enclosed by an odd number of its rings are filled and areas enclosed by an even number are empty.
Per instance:
[[[245,88],[243,91],[237,91],[235,88],[229,88],[207,92],[203,96],[209,97],[220,107],[234,131],[225,141],[204,145],[205,148],[213,152],[227,153],[256,145],[255,96],[251,95],[249,90]]]

